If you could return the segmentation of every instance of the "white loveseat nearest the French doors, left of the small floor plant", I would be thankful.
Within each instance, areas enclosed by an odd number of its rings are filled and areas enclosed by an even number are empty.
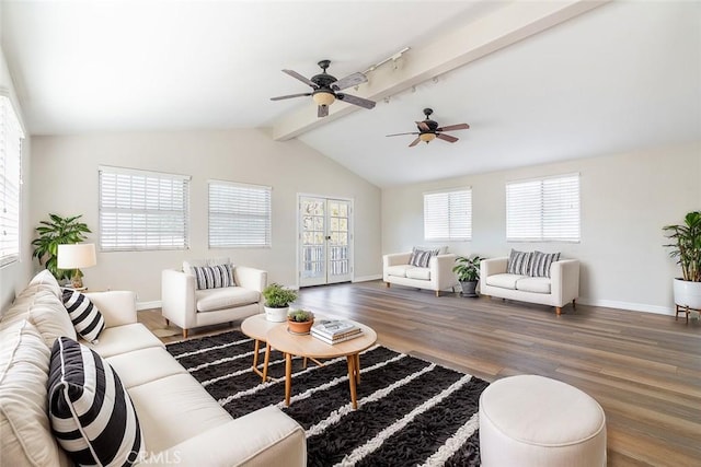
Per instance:
[[[412,252],[393,253],[382,256],[382,280],[391,284],[413,287],[416,289],[433,290],[436,296],[440,291],[458,285],[458,278],[452,268],[456,255],[451,253],[432,256],[427,268],[410,265]]]

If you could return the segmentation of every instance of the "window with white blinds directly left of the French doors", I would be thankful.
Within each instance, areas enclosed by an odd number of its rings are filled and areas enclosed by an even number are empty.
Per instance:
[[[271,247],[271,187],[209,180],[209,247]]]

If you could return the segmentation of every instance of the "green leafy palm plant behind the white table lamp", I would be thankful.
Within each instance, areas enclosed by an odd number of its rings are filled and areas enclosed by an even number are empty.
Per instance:
[[[41,225],[36,227],[38,237],[32,241],[34,245],[32,257],[37,258],[57,280],[69,279],[72,271],[58,269],[57,266],[58,245],[81,243],[87,238],[85,234],[91,231],[85,223],[78,221],[81,215],[61,218],[57,214],[48,214],[48,221],[41,221]]]

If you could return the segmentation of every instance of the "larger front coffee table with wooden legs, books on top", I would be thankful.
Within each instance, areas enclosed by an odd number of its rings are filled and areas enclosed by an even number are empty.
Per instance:
[[[317,316],[317,319],[330,318]],[[370,348],[377,341],[377,332],[372,328],[350,319],[363,329],[360,337],[334,343],[323,342],[311,335],[292,335],[287,326],[276,326],[267,331],[267,343],[274,349],[285,353],[285,404],[289,406],[289,397],[292,390],[292,357],[308,359],[335,359],[345,357],[348,361],[348,384],[350,386],[350,401],[353,408],[358,408],[356,385],[360,383],[360,352]]]

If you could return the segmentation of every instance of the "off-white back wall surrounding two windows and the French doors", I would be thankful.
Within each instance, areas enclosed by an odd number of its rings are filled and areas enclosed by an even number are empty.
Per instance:
[[[34,137],[32,225],[48,217],[82,214],[99,243],[97,167],[113,165],[192,175],[191,249],[99,253],[85,269],[93,290],[128,289],[143,305],[160,301],[160,275],[185,258],[230,256],[268,271],[271,281],[296,284],[297,194],[350,198],[355,203],[355,277],[380,270],[380,190],[306,144],[273,141],[262,130],[107,133]],[[273,247],[209,250],[207,180],[273,187]]]

